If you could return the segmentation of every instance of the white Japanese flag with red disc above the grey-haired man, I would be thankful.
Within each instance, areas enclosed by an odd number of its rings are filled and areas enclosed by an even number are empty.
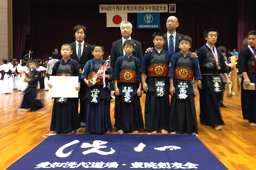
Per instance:
[[[127,21],[127,13],[107,13],[107,27],[120,27],[122,21]]]

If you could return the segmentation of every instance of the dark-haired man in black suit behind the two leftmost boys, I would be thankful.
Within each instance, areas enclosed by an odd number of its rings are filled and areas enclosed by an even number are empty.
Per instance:
[[[86,36],[85,26],[82,26],[82,25],[75,26],[75,28],[73,29],[73,34],[75,36],[75,42],[72,42],[70,44],[73,51],[70,57],[80,64],[81,73],[82,73],[82,70],[85,67],[86,62],[93,59],[92,45],[89,45],[88,43],[85,42],[85,36]],[[85,115],[85,100],[83,99],[83,97],[85,96],[87,86],[84,81],[81,81],[80,86],[81,87],[79,91],[79,99],[80,99],[79,117],[80,117],[81,127],[85,127],[86,115]]]

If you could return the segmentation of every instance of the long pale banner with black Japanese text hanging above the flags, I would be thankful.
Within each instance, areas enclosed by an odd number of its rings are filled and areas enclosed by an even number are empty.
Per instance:
[[[99,5],[99,13],[167,13],[168,4]]]

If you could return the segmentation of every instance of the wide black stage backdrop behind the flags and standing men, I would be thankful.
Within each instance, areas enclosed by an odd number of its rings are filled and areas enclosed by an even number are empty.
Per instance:
[[[66,0],[62,3],[31,1],[34,58],[49,58],[55,48],[60,49],[62,44],[74,42],[73,28],[78,24],[87,28],[85,42],[91,45],[102,43],[105,47],[104,58],[107,58],[112,43],[121,38],[121,33],[120,28],[106,27],[106,14],[99,13],[99,4]],[[219,32],[216,47],[237,47],[237,1],[179,1],[176,11],[161,13],[160,30],[167,32],[167,18],[177,16],[180,23],[177,32],[192,38],[191,51],[206,43],[203,32],[210,27]],[[153,47],[152,35],[159,29],[137,29],[136,13],[128,13],[128,21],[133,24],[131,37],[141,42],[142,50]]]

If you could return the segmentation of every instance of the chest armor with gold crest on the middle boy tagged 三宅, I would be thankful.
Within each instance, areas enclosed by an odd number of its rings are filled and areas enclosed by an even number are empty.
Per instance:
[[[119,82],[137,83],[137,77],[135,61],[128,62],[123,60],[121,71],[118,75]]]

